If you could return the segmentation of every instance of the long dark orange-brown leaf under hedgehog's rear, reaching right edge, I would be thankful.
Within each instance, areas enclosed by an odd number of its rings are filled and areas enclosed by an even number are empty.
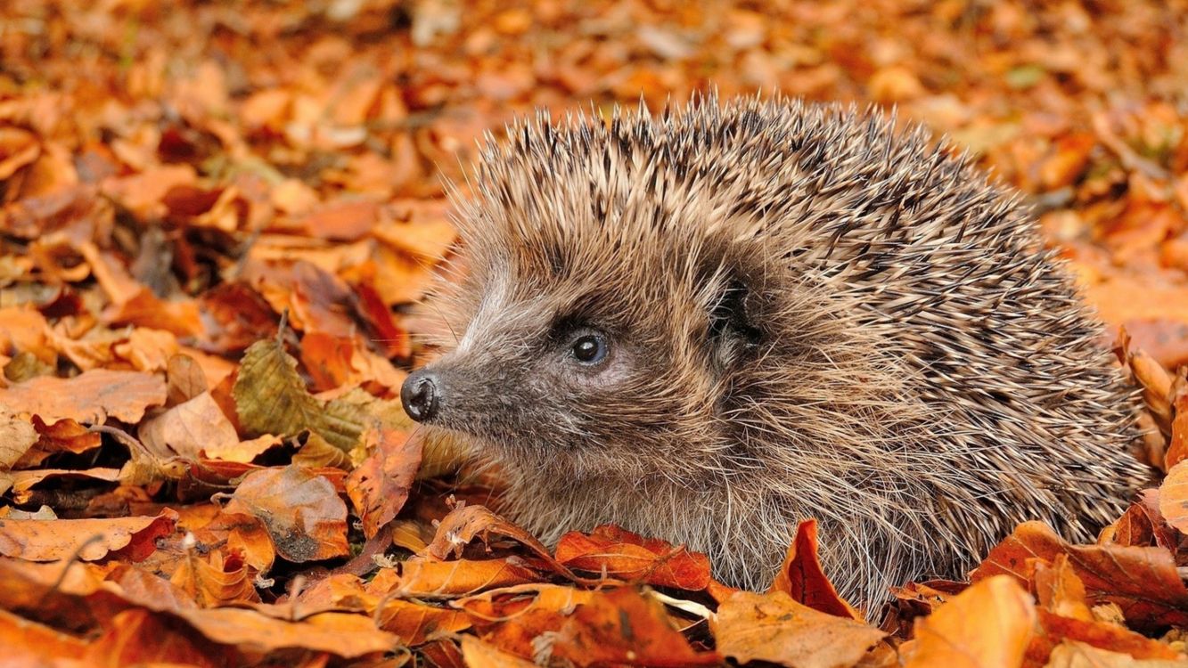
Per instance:
[[[1055,562],[1067,554],[1085,583],[1091,605],[1117,603],[1126,619],[1140,628],[1188,624],[1188,590],[1176,572],[1170,552],[1159,547],[1068,545],[1042,522],[1019,524],[986,555],[972,574],[973,581],[1007,574],[1028,585],[1031,559]]]

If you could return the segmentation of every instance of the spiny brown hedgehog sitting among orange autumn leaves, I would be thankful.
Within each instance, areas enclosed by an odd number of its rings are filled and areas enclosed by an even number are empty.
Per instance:
[[[545,542],[613,523],[759,589],[813,517],[868,609],[1020,521],[1092,539],[1150,478],[1062,260],[921,126],[710,93],[480,148],[402,400]]]

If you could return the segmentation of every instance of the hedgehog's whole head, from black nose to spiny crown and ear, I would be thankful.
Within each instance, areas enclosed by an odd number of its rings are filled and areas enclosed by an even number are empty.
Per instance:
[[[407,413],[538,476],[697,486],[802,422],[773,412],[827,405],[813,370],[857,351],[817,291],[771,271],[792,249],[764,198],[715,180],[696,144],[633,116],[488,148],[459,220],[465,271],[437,299],[456,339],[409,376]]]

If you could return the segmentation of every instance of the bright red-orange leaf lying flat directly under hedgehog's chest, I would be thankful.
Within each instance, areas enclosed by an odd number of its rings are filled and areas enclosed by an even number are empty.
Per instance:
[[[704,554],[613,524],[598,527],[589,535],[570,532],[561,536],[557,561],[580,571],[689,591],[701,591],[710,581]]]

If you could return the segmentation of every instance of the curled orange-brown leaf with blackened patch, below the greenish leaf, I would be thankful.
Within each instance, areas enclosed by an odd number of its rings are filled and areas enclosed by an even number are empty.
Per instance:
[[[305,467],[252,471],[225,510],[259,517],[277,553],[289,561],[321,561],[349,552],[347,505],[333,483]]]

